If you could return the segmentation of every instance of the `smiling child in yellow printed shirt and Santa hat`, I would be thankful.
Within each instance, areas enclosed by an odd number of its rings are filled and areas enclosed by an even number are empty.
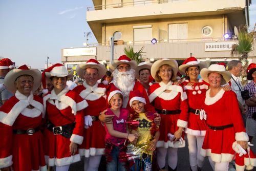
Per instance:
[[[129,104],[134,110],[127,119],[130,132],[139,135],[139,139],[135,143],[135,149],[141,148],[142,152],[139,159],[135,159],[131,170],[155,170],[156,162],[154,151],[159,139],[159,126],[154,123],[154,112],[148,112],[144,109],[146,104],[145,98],[137,90],[131,91],[129,95]],[[144,162],[146,161],[146,163]]]

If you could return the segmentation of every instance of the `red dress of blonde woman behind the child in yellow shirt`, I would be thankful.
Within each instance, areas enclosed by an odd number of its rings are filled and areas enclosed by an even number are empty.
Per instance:
[[[165,90],[171,90],[171,92],[165,93]],[[183,91],[182,87],[173,85],[172,82],[168,82],[167,85],[163,82],[159,82],[153,84],[150,89],[148,89],[148,95],[152,105],[158,110],[181,110],[180,114],[175,115],[160,114],[162,119],[159,127],[160,137],[157,142],[157,147],[184,147],[185,143],[181,144],[179,141],[177,141],[174,144],[173,142],[170,142],[169,138],[167,137],[168,133],[174,135],[174,133],[178,130],[178,126],[187,127],[187,95]]]

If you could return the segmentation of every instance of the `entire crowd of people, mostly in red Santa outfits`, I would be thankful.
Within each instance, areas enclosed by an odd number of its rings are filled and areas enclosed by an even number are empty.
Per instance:
[[[195,57],[154,63],[60,63],[44,72],[0,60],[0,170],[177,170],[188,144],[188,170],[256,166],[256,64],[210,66]],[[180,75],[180,77],[178,77]],[[231,164],[230,164],[231,163]],[[103,165],[103,167],[102,167]]]

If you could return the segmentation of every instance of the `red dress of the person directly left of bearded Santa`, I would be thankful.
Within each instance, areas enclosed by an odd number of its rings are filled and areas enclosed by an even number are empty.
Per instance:
[[[87,87],[87,88],[86,88]],[[93,87],[84,82],[83,85],[77,86],[73,91],[77,92],[83,99],[88,102],[88,107],[83,110],[84,116],[91,115],[98,117],[99,113],[105,108],[106,88],[104,84],[96,83]],[[90,157],[103,155],[105,149],[105,129],[100,120],[93,121],[93,125],[84,129],[84,141],[79,147],[79,153],[82,156]]]

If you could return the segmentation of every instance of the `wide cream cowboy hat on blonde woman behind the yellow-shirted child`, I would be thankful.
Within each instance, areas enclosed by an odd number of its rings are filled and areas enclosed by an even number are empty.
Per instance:
[[[157,70],[162,66],[162,65],[169,65],[170,67],[172,67],[174,73],[174,75],[177,75],[178,72],[178,63],[176,60],[172,60],[172,59],[160,59],[157,60],[153,63],[152,67],[151,67],[151,75],[154,79],[156,79],[156,74],[157,74]]]

